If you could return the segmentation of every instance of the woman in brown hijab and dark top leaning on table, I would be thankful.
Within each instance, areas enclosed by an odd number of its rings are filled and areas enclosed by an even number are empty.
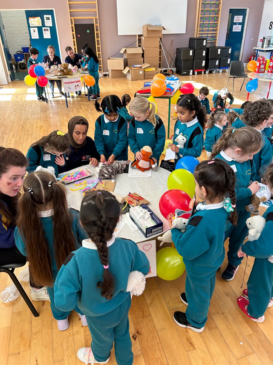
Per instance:
[[[77,167],[88,165],[98,166],[100,155],[95,142],[87,136],[88,122],[83,116],[76,115],[68,122],[67,138],[71,153],[66,157],[66,165],[60,166],[59,172],[66,172]]]

